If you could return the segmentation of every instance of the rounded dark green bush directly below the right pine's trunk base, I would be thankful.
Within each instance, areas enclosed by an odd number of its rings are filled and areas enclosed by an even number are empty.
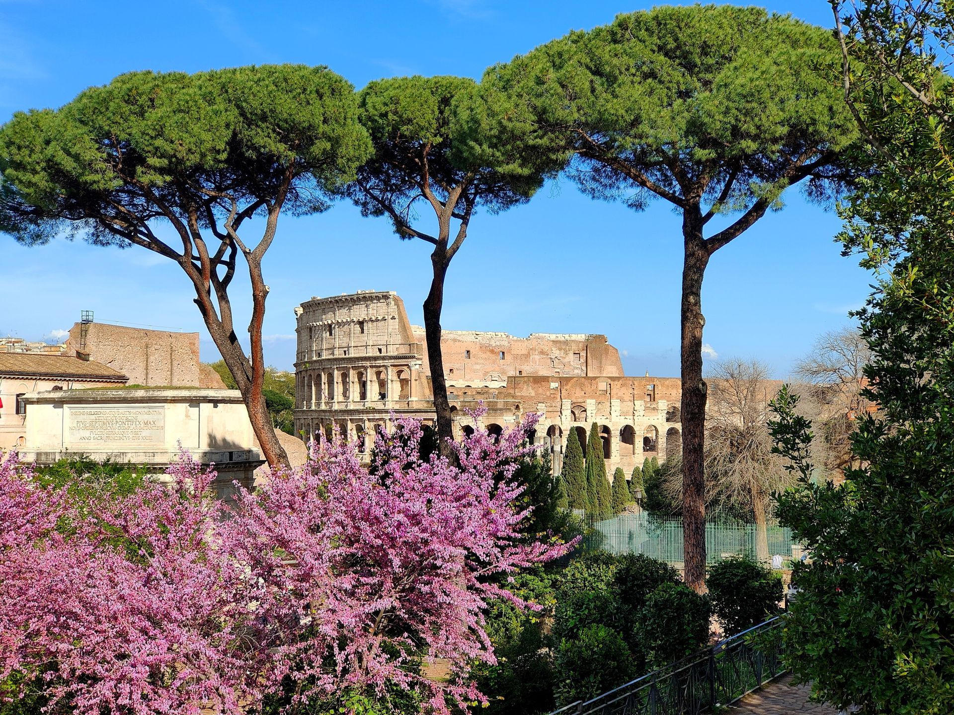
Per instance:
[[[633,633],[647,668],[670,664],[705,645],[711,615],[708,597],[692,588],[672,582],[657,586],[640,609]]]

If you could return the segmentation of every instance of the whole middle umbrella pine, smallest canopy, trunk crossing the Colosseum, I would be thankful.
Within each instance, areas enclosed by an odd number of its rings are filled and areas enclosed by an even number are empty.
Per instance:
[[[479,209],[496,213],[529,200],[548,174],[563,168],[568,154],[551,151],[552,137],[532,123],[509,121],[506,103],[466,77],[383,79],[369,83],[359,97],[374,154],[350,194],[363,215],[386,216],[399,237],[433,247],[425,342],[440,449],[452,457],[441,349],[450,261]]]

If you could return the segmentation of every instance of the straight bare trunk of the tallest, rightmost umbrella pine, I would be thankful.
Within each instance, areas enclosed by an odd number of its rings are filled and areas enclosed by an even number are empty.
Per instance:
[[[706,507],[703,480],[706,383],[702,379],[702,277],[709,251],[702,238],[702,220],[683,212],[685,255],[682,266],[682,521],[686,584],[701,592],[706,578]]]

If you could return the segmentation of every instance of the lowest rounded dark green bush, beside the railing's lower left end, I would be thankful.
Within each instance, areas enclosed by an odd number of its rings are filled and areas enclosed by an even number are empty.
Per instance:
[[[587,625],[576,638],[560,642],[556,672],[558,705],[590,700],[638,675],[623,637],[601,624]]]

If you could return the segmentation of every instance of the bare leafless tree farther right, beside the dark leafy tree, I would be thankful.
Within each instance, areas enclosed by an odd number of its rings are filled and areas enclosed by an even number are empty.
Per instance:
[[[851,435],[856,419],[871,407],[861,396],[864,366],[870,358],[861,333],[845,327],[820,336],[812,352],[796,363],[795,375],[801,381],[796,389],[803,397],[805,417],[818,427],[813,454],[836,478],[846,468],[857,466]]]

